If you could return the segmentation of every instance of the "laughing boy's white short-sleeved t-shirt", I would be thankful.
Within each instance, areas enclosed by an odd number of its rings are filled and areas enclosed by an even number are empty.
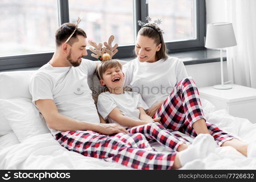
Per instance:
[[[124,91],[124,94],[103,92],[99,95],[97,103],[98,112],[102,118],[108,119],[109,123],[117,123],[108,116],[115,107],[117,107],[123,115],[137,120],[139,120],[140,115],[138,107],[142,107],[145,110],[148,109],[141,95],[136,92]],[[123,127],[127,128],[127,126]]]

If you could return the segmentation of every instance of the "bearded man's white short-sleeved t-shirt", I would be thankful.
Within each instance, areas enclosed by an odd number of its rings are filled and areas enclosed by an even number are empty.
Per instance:
[[[78,67],[53,67],[48,62],[30,79],[32,102],[35,104],[38,99],[52,99],[60,114],[99,123],[98,112],[87,83],[87,77],[95,69],[95,62],[86,59],[82,59]],[[49,130],[52,135],[61,132],[52,128]]]

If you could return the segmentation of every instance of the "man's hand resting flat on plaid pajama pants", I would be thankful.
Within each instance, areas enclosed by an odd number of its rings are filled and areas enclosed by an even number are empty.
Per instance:
[[[125,130],[125,128],[115,123],[99,123],[96,130],[97,132],[100,132],[105,135],[111,135],[114,133],[129,133],[127,130]]]

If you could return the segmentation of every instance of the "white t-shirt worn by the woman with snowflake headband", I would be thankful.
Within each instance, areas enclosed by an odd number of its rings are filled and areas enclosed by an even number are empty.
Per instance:
[[[160,59],[154,63],[142,63],[136,58],[123,66],[123,72],[123,86],[140,93],[148,107],[165,100],[176,84],[188,77],[183,62],[175,57]]]

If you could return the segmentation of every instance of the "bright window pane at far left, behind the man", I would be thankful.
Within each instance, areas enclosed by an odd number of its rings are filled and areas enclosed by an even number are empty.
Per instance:
[[[0,55],[55,49],[57,1],[1,0],[0,17]]]

